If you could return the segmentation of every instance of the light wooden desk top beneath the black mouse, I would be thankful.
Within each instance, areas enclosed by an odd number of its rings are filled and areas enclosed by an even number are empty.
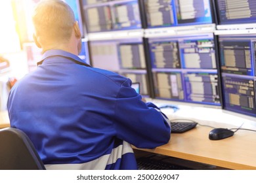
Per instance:
[[[198,125],[185,133],[172,133],[169,143],[163,146],[139,150],[228,169],[256,169],[256,132],[238,130],[228,139],[211,141],[209,131],[210,127]]]

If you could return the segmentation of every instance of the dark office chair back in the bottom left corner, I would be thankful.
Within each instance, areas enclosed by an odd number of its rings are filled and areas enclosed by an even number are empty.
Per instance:
[[[0,169],[45,170],[28,136],[12,127],[0,129]]]

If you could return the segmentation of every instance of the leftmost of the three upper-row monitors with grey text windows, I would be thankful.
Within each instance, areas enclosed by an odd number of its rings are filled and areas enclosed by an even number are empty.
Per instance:
[[[82,2],[88,33],[142,28],[137,0]]]

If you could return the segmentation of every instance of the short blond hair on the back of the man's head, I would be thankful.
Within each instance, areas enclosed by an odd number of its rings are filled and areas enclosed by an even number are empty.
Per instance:
[[[40,1],[32,16],[35,35],[41,44],[66,42],[72,35],[75,15],[66,3],[60,0]]]

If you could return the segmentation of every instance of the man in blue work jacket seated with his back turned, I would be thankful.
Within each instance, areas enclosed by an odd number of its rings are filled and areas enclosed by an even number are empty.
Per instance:
[[[14,85],[7,105],[11,126],[30,137],[47,169],[137,169],[130,144],[169,141],[169,121],[129,78],[77,57],[81,33],[66,3],[41,1],[33,24],[43,59]]]

